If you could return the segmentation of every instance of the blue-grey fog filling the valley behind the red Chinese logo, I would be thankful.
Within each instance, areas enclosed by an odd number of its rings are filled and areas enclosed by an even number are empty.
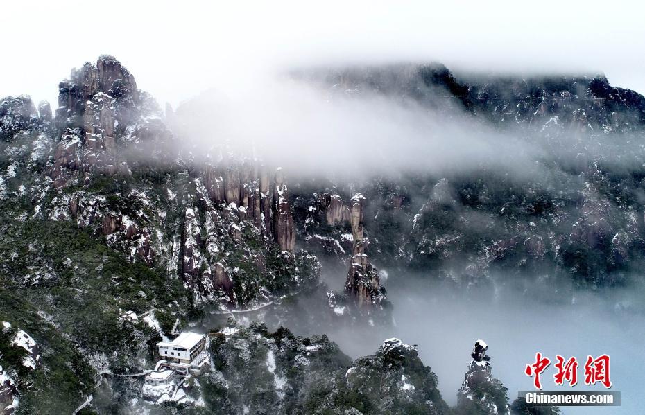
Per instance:
[[[621,391],[620,407],[562,407],[563,414],[637,414],[645,394],[640,384],[645,344],[645,317],[617,307],[617,303],[593,294],[575,303],[553,303],[548,299],[451,292],[419,275],[404,275],[386,283],[393,303],[395,327],[391,329],[342,328],[329,337],[352,357],[374,353],[388,337],[418,344],[420,357],[439,378],[439,389],[447,403],[456,403],[470,352],[476,339],[488,343],[492,374],[508,388],[510,400],[519,390],[533,390],[533,380],[524,367],[540,351],[555,360],[556,354],[576,356],[583,370],[587,354],[611,356],[612,390]],[[471,293],[472,294],[472,293]],[[622,294],[619,298],[624,299]],[[544,390],[553,384],[553,364],[542,375]],[[578,376],[582,376],[579,372]],[[576,389],[589,387],[579,381]]]

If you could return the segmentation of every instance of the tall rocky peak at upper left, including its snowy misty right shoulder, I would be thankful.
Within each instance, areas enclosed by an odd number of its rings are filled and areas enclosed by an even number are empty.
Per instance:
[[[146,163],[173,158],[160,109],[112,56],[101,55],[96,63],[74,69],[60,82],[58,105],[60,138],[49,166],[56,187],[76,179],[69,174],[75,170],[89,184],[92,174],[129,174],[130,164],[141,163],[142,155]]]

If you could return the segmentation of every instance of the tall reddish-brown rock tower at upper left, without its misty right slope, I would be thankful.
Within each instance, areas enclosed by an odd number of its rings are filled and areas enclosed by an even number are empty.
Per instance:
[[[142,103],[134,76],[114,57],[101,55],[96,63],[72,70],[58,89],[55,125],[60,139],[49,168],[55,186],[65,185],[68,170],[83,171],[86,184],[93,171],[128,173],[117,151],[117,124],[123,132],[139,114]],[[40,105],[39,111],[46,121],[49,104]]]

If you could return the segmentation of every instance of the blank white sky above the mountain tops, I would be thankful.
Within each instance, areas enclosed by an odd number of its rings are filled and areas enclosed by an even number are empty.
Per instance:
[[[640,1],[7,1],[0,97],[53,101],[99,54],[164,104],[297,64],[438,60],[476,71],[603,71],[645,93]]]

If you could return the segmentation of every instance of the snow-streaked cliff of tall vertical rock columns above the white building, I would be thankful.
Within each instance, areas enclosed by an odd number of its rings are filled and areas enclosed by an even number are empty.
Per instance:
[[[261,193],[262,175],[255,178],[248,164],[242,166],[230,166],[229,173],[222,177],[225,200],[212,200],[213,193],[209,193],[201,180],[194,182],[195,193],[191,198],[196,200],[196,205],[185,212],[180,251],[182,275],[197,303],[243,306],[260,299],[268,300],[270,294],[263,284],[250,279],[259,276],[273,280],[277,268],[295,267],[300,261],[298,258],[306,258],[304,254],[294,253],[293,219],[282,174],[277,173],[273,181],[275,192],[270,197]],[[244,173],[240,174],[241,170]],[[265,208],[268,221],[261,213]],[[266,231],[266,224],[272,231]],[[273,246],[278,249],[277,253],[273,252]],[[236,254],[231,255],[231,250]],[[278,261],[267,258],[276,254]],[[267,267],[267,263],[271,266]],[[287,285],[297,285],[298,272],[286,277]],[[302,277],[303,282],[309,281],[309,276]],[[284,283],[279,281],[280,285]]]

